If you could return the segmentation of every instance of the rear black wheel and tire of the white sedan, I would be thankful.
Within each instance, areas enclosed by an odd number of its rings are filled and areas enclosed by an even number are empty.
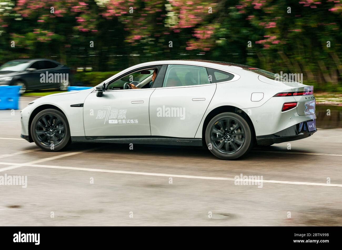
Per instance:
[[[210,152],[223,160],[240,158],[253,146],[251,126],[244,117],[231,112],[212,118],[205,138]]]

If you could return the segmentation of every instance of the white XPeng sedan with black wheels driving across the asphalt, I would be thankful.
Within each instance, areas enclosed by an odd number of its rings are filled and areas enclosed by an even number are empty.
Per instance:
[[[204,60],[135,65],[94,88],[41,97],[22,135],[47,151],[71,142],[206,146],[221,159],[315,133],[313,86]]]

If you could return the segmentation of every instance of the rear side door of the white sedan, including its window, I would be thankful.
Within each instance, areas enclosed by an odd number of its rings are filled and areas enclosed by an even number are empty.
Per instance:
[[[205,67],[168,65],[162,86],[150,97],[151,135],[194,138],[215,90]]]

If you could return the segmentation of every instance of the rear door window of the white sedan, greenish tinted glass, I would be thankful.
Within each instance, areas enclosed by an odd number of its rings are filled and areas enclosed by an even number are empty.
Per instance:
[[[205,67],[171,64],[165,74],[163,87],[210,84]]]

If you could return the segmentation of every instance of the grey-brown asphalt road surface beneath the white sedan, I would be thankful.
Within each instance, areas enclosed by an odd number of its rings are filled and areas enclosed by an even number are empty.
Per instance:
[[[27,187],[0,186],[1,226],[342,225],[342,129],[235,161],[126,144],[45,152],[19,137],[19,112],[0,111],[0,178],[26,176]],[[262,181],[235,185],[241,174]]]

